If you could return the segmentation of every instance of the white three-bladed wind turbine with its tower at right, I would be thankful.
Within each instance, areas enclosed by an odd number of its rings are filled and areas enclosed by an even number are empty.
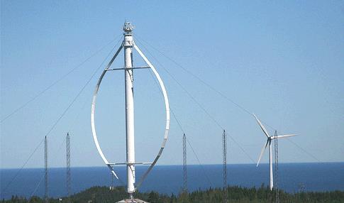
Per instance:
[[[253,114],[253,116],[255,116],[255,114]],[[290,134],[290,135],[277,136],[277,134],[276,134],[276,136],[270,136],[269,133],[267,132],[267,129],[262,125],[262,123],[257,118],[257,116],[255,116],[255,120],[259,124],[260,128],[262,128],[262,131],[265,133],[265,136],[267,136],[267,142],[265,143],[265,146],[262,147],[262,151],[260,152],[260,155],[258,158],[257,166],[260,163],[260,159],[262,158],[262,155],[265,152],[267,145],[269,145],[270,190],[272,190],[272,187],[274,187],[274,175],[272,173],[272,146],[271,146],[271,141],[273,139],[276,139],[276,138],[278,138],[278,139],[279,138],[287,138],[287,137],[292,137],[292,136],[296,136],[296,135]]]

